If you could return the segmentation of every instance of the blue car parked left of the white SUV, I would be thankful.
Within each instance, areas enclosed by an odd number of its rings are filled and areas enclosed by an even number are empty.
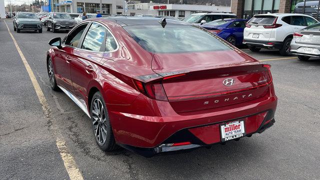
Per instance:
[[[241,45],[243,40],[243,29],[248,19],[218,19],[200,26],[219,37],[228,41],[232,45]]]

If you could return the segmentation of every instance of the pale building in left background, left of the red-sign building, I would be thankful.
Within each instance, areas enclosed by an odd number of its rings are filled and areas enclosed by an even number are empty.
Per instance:
[[[102,14],[116,14],[117,7],[122,7],[122,0],[53,0],[52,10],[57,12],[69,13],[96,13],[101,10]],[[101,8],[100,8],[101,5]],[[52,6],[52,5],[51,5]],[[122,9],[121,9],[122,11]]]

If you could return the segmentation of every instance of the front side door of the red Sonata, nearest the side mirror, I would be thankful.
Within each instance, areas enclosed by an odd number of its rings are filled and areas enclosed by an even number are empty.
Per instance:
[[[62,47],[55,49],[54,70],[57,84],[72,92],[70,62],[74,59],[74,52],[78,46],[81,35],[88,23],[74,28],[62,41]]]

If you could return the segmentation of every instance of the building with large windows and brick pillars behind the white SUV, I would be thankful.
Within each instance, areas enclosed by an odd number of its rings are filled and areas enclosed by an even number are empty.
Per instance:
[[[231,0],[231,11],[239,18],[259,13],[303,13],[320,20],[319,0]]]

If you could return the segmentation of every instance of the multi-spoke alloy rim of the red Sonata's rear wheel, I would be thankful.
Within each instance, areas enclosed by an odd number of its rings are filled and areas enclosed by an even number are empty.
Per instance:
[[[103,108],[102,102],[98,98],[93,100],[91,116],[95,138],[100,145],[103,145],[106,140],[107,124],[105,109]]]

